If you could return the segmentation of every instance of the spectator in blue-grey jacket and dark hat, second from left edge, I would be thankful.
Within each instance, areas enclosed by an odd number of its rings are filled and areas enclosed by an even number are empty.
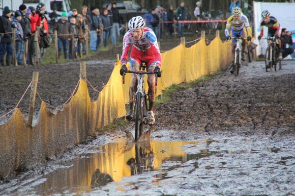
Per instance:
[[[16,28],[15,31],[15,53],[16,58],[18,58],[20,51],[21,51],[21,45],[24,40],[24,32],[21,25],[22,20],[22,14],[18,11],[14,13],[14,16],[12,17],[11,25],[14,25]],[[17,64],[16,64],[17,65]]]

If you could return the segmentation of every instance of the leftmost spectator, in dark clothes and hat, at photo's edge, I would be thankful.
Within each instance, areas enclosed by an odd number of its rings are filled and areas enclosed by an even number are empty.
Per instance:
[[[1,16],[2,26],[3,26],[3,36],[0,40],[0,66],[5,66],[4,64],[4,55],[6,54],[6,66],[10,66],[11,59],[12,59],[12,43],[11,43],[11,36],[12,36],[12,29],[10,23],[10,16],[11,10],[8,6],[4,7],[3,14]]]

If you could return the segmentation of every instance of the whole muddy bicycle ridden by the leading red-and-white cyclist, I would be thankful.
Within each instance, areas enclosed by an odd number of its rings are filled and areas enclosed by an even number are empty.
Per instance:
[[[135,141],[138,141],[140,136],[144,134],[145,118],[148,116],[148,104],[147,94],[145,92],[144,77],[145,74],[154,74],[156,77],[157,86],[157,74],[153,72],[145,72],[147,66],[145,63],[141,66],[141,71],[127,71],[126,73],[135,73],[138,77],[137,91],[134,94],[134,110],[133,120],[135,122]],[[125,73],[123,74],[122,83],[124,84]]]

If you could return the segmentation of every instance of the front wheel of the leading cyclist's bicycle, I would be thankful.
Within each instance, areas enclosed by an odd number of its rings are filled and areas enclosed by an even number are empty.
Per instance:
[[[144,131],[144,124],[143,124],[143,112],[144,107],[142,105],[142,94],[138,93],[136,97],[136,105],[135,105],[135,141],[138,141],[140,136],[143,134]],[[145,102],[145,101],[144,101]]]

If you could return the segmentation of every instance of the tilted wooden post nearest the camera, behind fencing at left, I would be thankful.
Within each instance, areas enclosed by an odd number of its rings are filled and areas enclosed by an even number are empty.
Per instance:
[[[37,91],[39,72],[33,72],[33,79],[31,83],[31,93],[29,98],[29,118],[28,123],[30,126],[33,124],[33,115],[34,115],[34,106],[35,106],[35,97]]]

